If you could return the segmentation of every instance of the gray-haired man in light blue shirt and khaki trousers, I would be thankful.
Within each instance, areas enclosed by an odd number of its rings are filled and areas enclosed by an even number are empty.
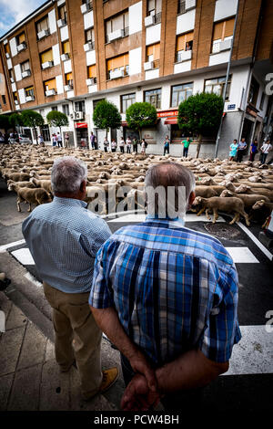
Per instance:
[[[67,372],[76,360],[83,399],[105,392],[116,368],[101,370],[101,330],[88,306],[96,252],[111,235],[106,222],[86,209],[86,163],[55,160],[54,200],[35,208],[22,225],[25,242],[53,309],[56,361]]]

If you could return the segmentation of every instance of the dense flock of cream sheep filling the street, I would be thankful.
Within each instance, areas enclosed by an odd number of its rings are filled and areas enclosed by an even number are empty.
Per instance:
[[[134,202],[142,201],[144,207],[144,180],[147,168],[158,162],[181,162],[196,176],[196,199],[192,211],[207,218],[213,214],[216,222],[218,211],[234,214],[230,224],[240,216],[246,220],[264,224],[273,210],[273,166],[260,162],[229,162],[218,159],[173,158],[171,156],[125,154],[82,149],[63,149],[34,145],[8,145],[0,147],[0,170],[8,190],[17,194],[20,204],[44,204],[52,201],[50,170],[56,158],[73,155],[87,164],[88,182],[86,202],[92,203],[103,191],[106,195],[111,186],[118,189],[129,186],[129,196]],[[90,196],[91,195],[91,196]],[[116,204],[118,200],[116,199]],[[107,213],[107,204],[103,204]]]

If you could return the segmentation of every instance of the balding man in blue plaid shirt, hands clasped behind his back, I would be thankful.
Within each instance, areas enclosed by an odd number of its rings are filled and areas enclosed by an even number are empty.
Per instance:
[[[197,409],[199,388],[227,371],[241,338],[232,258],[216,238],[184,226],[194,187],[178,163],[149,168],[147,220],[119,229],[96,254],[89,304],[122,353],[125,410],[162,396],[166,409]]]

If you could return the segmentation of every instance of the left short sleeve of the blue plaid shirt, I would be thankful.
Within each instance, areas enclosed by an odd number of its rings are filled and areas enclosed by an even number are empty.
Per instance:
[[[95,309],[107,309],[114,307],[113,289],[107,276],[107,244],[100,247],[96,254],[94,265],[93,283],[89,295],[89,304]]]

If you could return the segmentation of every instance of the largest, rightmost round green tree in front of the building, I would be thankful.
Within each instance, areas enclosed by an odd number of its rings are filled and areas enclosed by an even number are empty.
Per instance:
[[[178,126],[183,131],[198,135],[197,155],[202,144],[202,136],[216,133],[219,128],[224,102],[217,94],[201,92],[192,95],[179,104]]]

